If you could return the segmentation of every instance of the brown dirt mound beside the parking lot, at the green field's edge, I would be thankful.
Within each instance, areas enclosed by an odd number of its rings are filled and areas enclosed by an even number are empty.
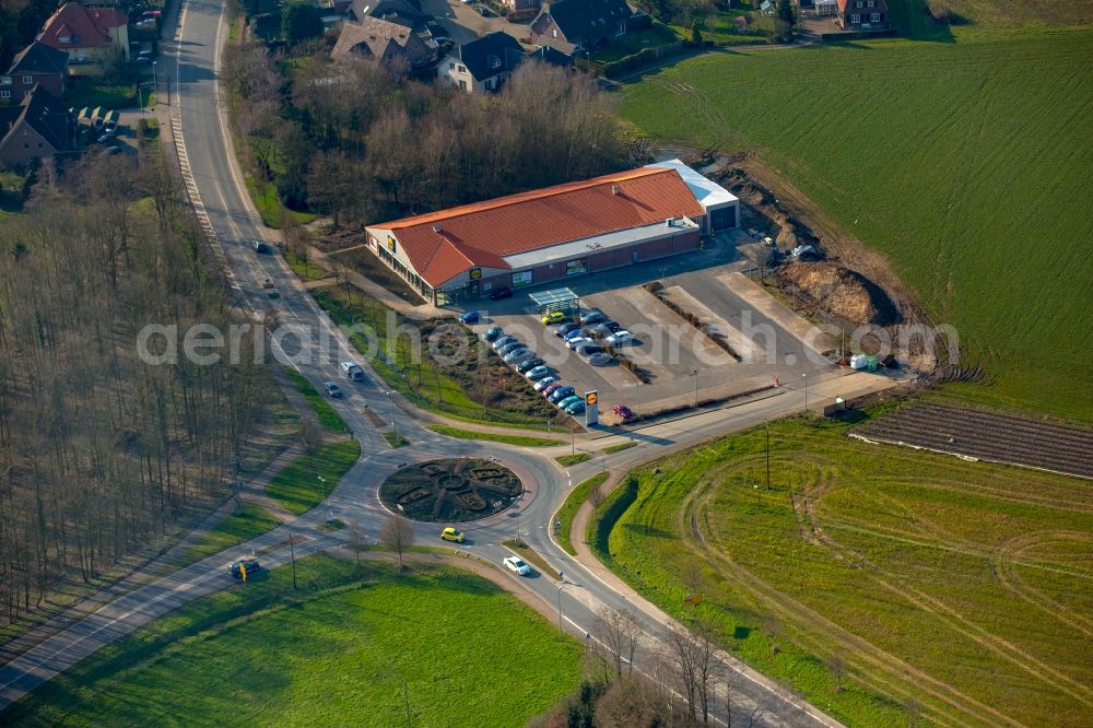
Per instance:
[[[780,268],[777,278],[779,287],[851,324],[900,321],[900,312],[884,291],[836,263],[791,263]]]

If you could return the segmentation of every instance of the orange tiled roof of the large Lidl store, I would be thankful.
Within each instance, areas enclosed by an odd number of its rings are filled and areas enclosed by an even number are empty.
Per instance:
[[[475,266],[508,268],[505,256],[703,213],[678,172],[642,167],[374,227],[392,231],[436,286]]]

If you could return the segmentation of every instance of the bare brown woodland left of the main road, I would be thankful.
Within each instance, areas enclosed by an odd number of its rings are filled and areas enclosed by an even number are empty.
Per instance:
[[[50,165],[0,224],[0,623],[226,495],[269,380],[138,355],[149,324],[224,326],[225,289],[158,151]]]

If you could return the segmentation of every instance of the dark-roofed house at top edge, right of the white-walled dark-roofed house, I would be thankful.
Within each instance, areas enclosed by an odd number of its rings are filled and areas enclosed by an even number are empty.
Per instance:
[[[556,0],[531,23],[531,40],[572,56],[625,35],[634,11],[626,0]]]

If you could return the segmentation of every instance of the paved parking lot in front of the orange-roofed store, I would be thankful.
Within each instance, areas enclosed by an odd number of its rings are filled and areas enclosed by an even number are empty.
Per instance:
[[[479,301],[470,305],[481,307],[483,316],[473,328],[482,333],[491,326],[502,327],[533,350],[552,376],[578,394],[599,391],[601,419],[608,423],[615,421],[610,414],[614,404],[651,414],[776,381],[796,387],[802,375],[837,374],[816,353],[831,342],[810,341],[808,321],[739,274],[748,267],[736,260],[739,239],[733,233],[697,254],[519,290],[503,301]],[[649,281],[662,281],[675,305],[724,334],[736,356],[643,287]],[[618,362],[592,366],[555,336],[560,325],[542,324],[542,314],[528,293],[562,286],[579,296],[581,310],[598,308],[634,334],[632,341],[614,349],[644,371],[647,383]]]

